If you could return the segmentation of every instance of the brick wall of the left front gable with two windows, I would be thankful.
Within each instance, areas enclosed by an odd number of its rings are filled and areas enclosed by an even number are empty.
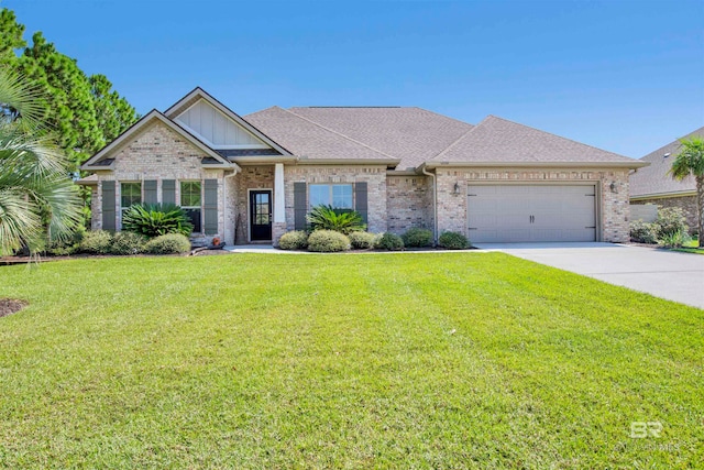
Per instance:
[[[210,193],[210,197],[212,197],[212,194],[217,195],[217,230],[215,230],[213,234],[222,236],[224,232],[224,211],[222,210],[224,207],[224,171],[204,168],[201,160],[206,156],[200,149],[165,124],[161,122],[152,123],[110,155],[110,157],[116,159],[112,172],[96,173],[99,179],[97,193],[100,205],[92,205],[91,207],[96,208],[98,206],[100,212],[102,212],[106,207],[110,206],[110,203],[106,200],[102,194],[102,183],[108,181],[113,182],[114,190],[109,194],[109,198],[112,198],[116,208],[119,206],[121,182],[142,182],[145,201],[148,201],[147,198],[151,200],[156,194],[157,203],[178,205],[180,203],[179,182],[201,182],[205,188],[205,181],[216,181],[216,193]],[[155,192],[154,183],[156,183]],[[212,183],[208,185],[212,192]],[[113,227],[107,228],[105,226],[105,215],[101,214],[99,217],[94,215],[94,228],[118,229],[117,216],[118,214],[114,215]],[[212,212],[210,212],[209,217],[208,228],[212,229],[215,226]]]

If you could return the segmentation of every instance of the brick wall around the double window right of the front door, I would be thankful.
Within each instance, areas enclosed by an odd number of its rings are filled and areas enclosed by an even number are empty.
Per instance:
[[[308,185],[352,184],[355,188],[356,184],[362,183],[359,185],[359,190],[363,190],[364,184],[366,185],[367,230],[375,233],[386,231],[385,165],[285,165],[284,182],[286,230],[300,230],[301,225],[305,223],[301,219],[305,220],[305,214],[308,211]],[[355,194],[354,197],[356,200],[361,195]],[[301,200],[305,200],[305,206]],[[359,208],[362,209],[361,206]]]

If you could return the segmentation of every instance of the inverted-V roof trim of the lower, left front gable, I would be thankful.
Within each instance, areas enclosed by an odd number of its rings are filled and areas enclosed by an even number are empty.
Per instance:
[[[174,132],[180,134],[184,139],[190,142],[193,145],[201,150],[209,157],[213,159],[209,164],[218,164],[227,167],[238,166],[233,163],[228,162],[226,159],[220,156],[217,152],[206,145],[204,142],[198,140],[197,136],[188,132],[183,127],[178,125],[176,122],[166,118],[164,114],[158,112],[157,110],[150,111],[146,116],[140,119],[138,122],[132,124],[127,131],[124,131],[120,136],[110,142],[108,145],[102,147],[98,153],[91,156],[86,163],[84,163],[80,167],[86,171],[101,170],[101,168],[111,168],[114,162],[114,159],[111,159],[113,154],[119,152],[124,145],[129,144],[131,139],[145,129],[147,125],[161,122],[167,128],[172,129]]]

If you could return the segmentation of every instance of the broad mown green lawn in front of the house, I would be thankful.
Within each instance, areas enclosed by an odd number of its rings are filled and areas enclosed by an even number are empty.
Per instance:
[[[704,461],[704,310],[501,253],[61,261],[0,297],[4,468]]]

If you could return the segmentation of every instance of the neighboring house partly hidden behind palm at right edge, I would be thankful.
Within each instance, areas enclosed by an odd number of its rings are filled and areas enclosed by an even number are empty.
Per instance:
[[[700,128],[682,139],[701,136],[704,128]],[[669,174],[674,157],[680,153],[680,140],[656,150],[640,159],[650,165],[630,175],[630,204],[654,204],[662,207],[681,207],[691,229],[698,227],[696,210],[696,183],[693,176],[676,181]]]

